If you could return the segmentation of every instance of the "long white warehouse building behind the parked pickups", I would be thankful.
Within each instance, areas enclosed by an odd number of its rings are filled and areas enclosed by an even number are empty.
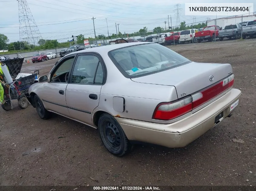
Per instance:
[[[256,14],[246,16],[234,16],[216,19],[216,25],[224,28],[226,25],[256,20]],[[207,26],[215,25],[215,19],[207,22]]]

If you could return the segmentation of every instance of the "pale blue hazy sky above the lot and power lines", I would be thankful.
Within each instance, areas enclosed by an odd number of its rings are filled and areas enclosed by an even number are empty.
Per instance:
[[[181,6],[179,11],[180,20],[193,23],[194,16],[185,16],[185,3],[191,1],[178,1]],[[197,1],[196,3],[218,3],[223,1]],[[241,3],[242,1],[227,0],[225,3]],[[107,35],[107,23],[109,33],[116,33],[115,23],[119,24],[121,33],[136,32],[143,27],[152,30],[155,27],[168,28],[168,15],[170,26],[176,24],[175,4],[176,1],[167,0],[27,0],[28,6],[38,25],[44,39],[58,39],[59,42],[71,40],[72,35],[84,34],[85,37],[94,37],[92,17],[95,17],[96,35]],[[243,3],[253,3],[244,0]],[[0,0],[0,33],[4,33],[9,42],[19,40],[19,17],[17,0]],[[256,3],[253,7],[256,11]],[[231,15],[229,15],[231,16]],[[195,21],[205,22],[207,18],[214,16],[195,16]],[[219,16],[220,18],[221,16]]]

